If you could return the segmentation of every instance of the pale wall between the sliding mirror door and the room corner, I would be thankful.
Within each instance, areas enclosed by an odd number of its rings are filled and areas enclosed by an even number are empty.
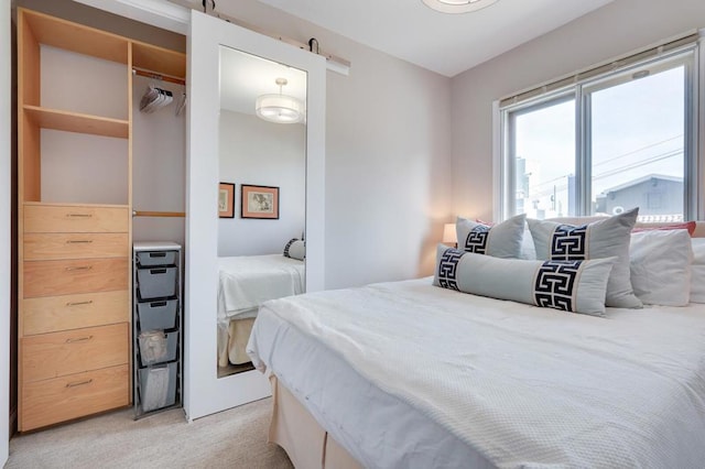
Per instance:
[[[218,10],[351,62],[327,73],[326,287],[431,274],[451,214],[451,79],[254,0]]]

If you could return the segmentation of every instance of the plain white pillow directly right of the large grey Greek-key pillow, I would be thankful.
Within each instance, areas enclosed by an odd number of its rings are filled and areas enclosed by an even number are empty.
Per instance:
[[[644,305],[685,306],[691,298],[693,250],[687,230],[649,230],[631,236],[629,270]]]

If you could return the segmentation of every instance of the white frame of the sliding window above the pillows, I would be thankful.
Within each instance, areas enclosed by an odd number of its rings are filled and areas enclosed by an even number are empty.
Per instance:
[[[705,30],[703,30],[705,31]],[[655,57],[637,61],[623,67],[615,67],[589,78],[540,92],[520,102],[501,106],[492,103],[494,116],[494,217],[505,220],[516,214],[516,142],[513,121],[517,116],[554,106],[574,99],[575,102],[575,197],[576,216],[592,214],[592,162],[590,162],[590,94],[628,83],[632,75],[649,70],[650,74],[684,66],[684,175],[683,175],[683,216],[686,220],[705,217],[705,177],[698,177],[705,168],[705,131],[698,135],[698,122],[705,122],[705,47],[699,46],[701,39],[692,44],[674,48]]]

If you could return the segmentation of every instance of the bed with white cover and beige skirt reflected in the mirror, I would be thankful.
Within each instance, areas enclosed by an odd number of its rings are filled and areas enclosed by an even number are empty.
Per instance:
[[[218,366],[250,361],[246,345],[260,305],[304,291],[304,262],[282,254],[218,259]]]

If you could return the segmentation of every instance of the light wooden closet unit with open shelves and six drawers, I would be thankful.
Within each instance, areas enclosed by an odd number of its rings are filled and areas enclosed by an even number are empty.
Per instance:
[[[127,102],[117,111],[123,116],[47,106],[52,99],[42,96],[46,84],[43,80],[61,78],[56,74],[42,75],[46,73],[43,54],[48,53],[72,54],[83,63],[88,61],[96,67],[118,70],[119,76],[113,78],[121,84],[119,91],[127,90]],[[18,9],[21,432],[128,406],[132,399],[131,174],[135,67],[183,78],[186,56]],[[83,92],[87,94],[86,100],[101,99],[99,94],[90,96],[90,90],[79,89],[74,95],[83,98]],[[56,135],[69,142],[68,146],[74,142],[72,139],[77,139],[74,143],[77,153],[85,135],[104,139],[93,141],[96,148],[102,149],[105,142],[106,148],[124,149],[116,156],[117,161],[112,160],[124,171],[96,175],[76,164],[78,160],[56,161],[66,154],[66,148],[61,153],[55,145],[43,143]],[[101,153],[97,151],[96,157],[115,156]],[[43,164],[48,170],[43,172]],[[62,168],[62,174],[53,172],[56,167]],[[112,187],[112,193],[104,193],[104,186]]]

